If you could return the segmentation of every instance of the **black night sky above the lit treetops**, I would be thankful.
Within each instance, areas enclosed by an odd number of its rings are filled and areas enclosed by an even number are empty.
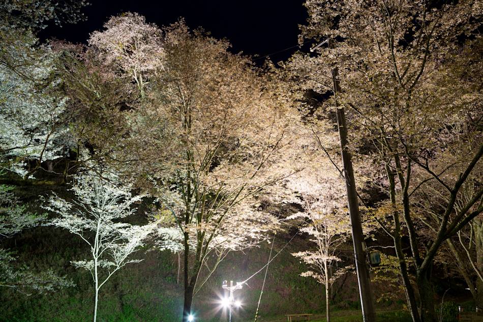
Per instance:
[[[41,38],[58,38],[70,42],[85,42],[112,15],[137,12],[148,22],[159,26],[184,17],[190,28],[198,26],[216,38],[227,38],[233,51],[264,56],[297,45],[298,24],[305,24],[304,0],[92,0],[84,8],[86,21],[51,26]],[[285,60],[297,48],[271,55],[274,62]]]

